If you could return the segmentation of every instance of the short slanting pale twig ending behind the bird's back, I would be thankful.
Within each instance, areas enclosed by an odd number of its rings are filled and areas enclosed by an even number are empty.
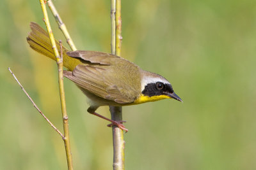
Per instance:
[[[70,34],[68,33],[66,25],[62,22],[61,17],[59,15],[58,11],[56,10],[54,4],[52,3],[51,0],[47,1],[47,4],[48,4],[50,10],[52,11],[52,15],[54,15],[54,17],[56,19],[56,22],[59,25],[60,30],[63,32],[63,34],[64,34],[64,36],[67,40],[68,45],[70,46],[72,51],[76,51],[77,48],[76,48],[72,38],[70,37]]]

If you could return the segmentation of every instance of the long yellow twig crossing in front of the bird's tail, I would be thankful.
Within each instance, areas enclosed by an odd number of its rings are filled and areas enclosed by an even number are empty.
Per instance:
[[[49,38],[51,40],[52,50],[54,51],[54,55],[56,57],[56,62],[58,64],[58,77],[59,77],[58,80],[59,80],[61,111],[62,111],[63,129],[64,129],[63,141],[65,143],[68,170],[72,170],[73,163],[72,163],[72,153],[71,153],[71,148],[70,148],[69,130],[68,130],[68,115],[67,115],[67,110],[66,110],[65,92],[64,92],[64,85],[63,85],[63,59],[60,56],[58,49],[56,48],[56,42],[55,42],[54,36],[52,34],[52,29],[51,29],[51,25],[49,22],[49,18],[48,18],[46,6],[45,6],[46,1],[44,1],[44,0],[39,0],[39,1],[41,4],[43,14],[44,14],[44,22],[47,27]],[[61,47],[61,53],[62,53],[62,47]]]

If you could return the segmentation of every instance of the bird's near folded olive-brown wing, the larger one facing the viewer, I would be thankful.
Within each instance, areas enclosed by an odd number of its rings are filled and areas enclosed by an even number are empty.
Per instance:
[[[63,74],[79,87],[96,96],[120,104],[132,103],[134,96],[131,93],[127,94],[127,92],[134,89],[125,84],[125,82],[120,82],[122,80],[118,80],[108,67],[77,65],[72,72],[64,71]]]

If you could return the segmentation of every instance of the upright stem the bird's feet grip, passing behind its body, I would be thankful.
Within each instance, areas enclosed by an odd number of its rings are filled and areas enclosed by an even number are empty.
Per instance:
[[[121,0],[111,0],[111,53],[121,54],[122,43],[122,24],[121,24]],[[122,107],[109,106],[111,119],[122,121]],[[116,126],[112,127],[113,131],[113,169],[124,169],[124,132]]]

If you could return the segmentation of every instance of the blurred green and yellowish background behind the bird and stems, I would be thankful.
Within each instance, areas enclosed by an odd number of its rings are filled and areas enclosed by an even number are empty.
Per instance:
[[[79,50],[110,52],[110,1],[53,2]],[[60,136],[7,70],[62,131],[56,63],[26,43],[42,19],[38,1],[1,1],[0,169],[67,169]],[[122,1],[122,36],[122,57],[162,74],[184,101],[123,108],[126,169],[256,169],[255,0]],[[86,112],[74,83],[65,92],[74,169],[112,169],[108,122]]]

